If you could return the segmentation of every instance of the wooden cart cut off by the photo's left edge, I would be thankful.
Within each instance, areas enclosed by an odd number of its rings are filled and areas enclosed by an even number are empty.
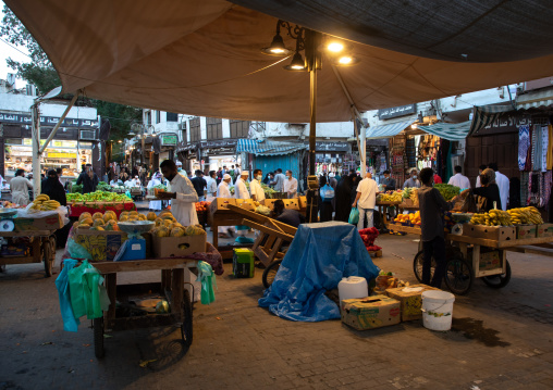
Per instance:
[[[28,237],[30,239],[30,254],[24,256],[0,255],[0,272],[3,272],[7,264],[45,263],[46,277],[52,276],[53,263],[56,261],[56,230],[28,230],[28,231],[2,231],[0,237]]]

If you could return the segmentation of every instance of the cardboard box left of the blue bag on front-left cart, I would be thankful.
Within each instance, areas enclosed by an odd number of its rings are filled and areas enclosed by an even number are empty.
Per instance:
[[[95,262],[112,262],[125,240],[126,232],[124,231],[78,228],[75,234],[75,242],[85,247]]]

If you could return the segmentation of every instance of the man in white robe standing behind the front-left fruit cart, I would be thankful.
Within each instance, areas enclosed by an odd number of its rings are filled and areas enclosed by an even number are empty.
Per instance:
[[[171,213],[183,226],[197,225],[198,214],[195,202],[198,194],[191,180],[179,174],[176,164],[172,160],[163,161],[159,167],[163,177],[169,180],[167,192],[158,192],[158,198],[171,200]]]

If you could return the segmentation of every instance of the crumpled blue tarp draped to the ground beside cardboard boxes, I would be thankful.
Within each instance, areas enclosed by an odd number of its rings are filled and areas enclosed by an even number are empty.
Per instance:
[[[299,225],[259,305],[292,320],[340,318],[339,306],[324,292],[337,288],[342,277],[370,280],[379,272],[355,226],[343,222]]]

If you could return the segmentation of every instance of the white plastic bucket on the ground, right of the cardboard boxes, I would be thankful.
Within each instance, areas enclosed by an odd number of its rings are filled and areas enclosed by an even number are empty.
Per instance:
[[[430,330],[452,328],[453,302],[455,295],[441,290],[422,292],[422,325]]]

